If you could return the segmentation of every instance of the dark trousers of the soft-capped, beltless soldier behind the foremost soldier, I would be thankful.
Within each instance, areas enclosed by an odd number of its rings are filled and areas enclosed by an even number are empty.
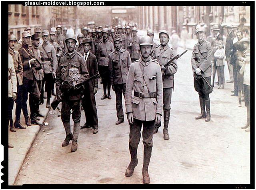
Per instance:
[[[122,94],[124,95],[124,99],[125,99],[126,83],[116,84],[114,85],[114,87],[115,87],[115,93],[116,93],[116,115],[118,119],[124,120]]]

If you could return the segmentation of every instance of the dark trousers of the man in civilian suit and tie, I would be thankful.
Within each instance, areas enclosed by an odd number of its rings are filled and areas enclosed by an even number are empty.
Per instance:
[[[84,98],[82,98],[82,107],[84,108],[86,123],[89,126],[92,126],[93,129],[98,129],[98,114],[92,81],[89,81],[85,86]]]

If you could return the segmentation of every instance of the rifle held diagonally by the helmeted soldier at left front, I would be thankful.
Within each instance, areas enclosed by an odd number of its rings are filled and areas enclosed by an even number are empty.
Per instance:
[[[86,79],[86,80],[83,81],[82,83],[79,83],[79,84],[77,84],[77,85],[75,85],[75,86],[73,86],[73,87],[67,89],[66,91],[64,91],[64,92],[60,95],[61,99],[65,99],[65,98],[69,97],[69,95],[70,95],[71,93],[73,93],[73,92],[76,91],[76,90],[79,90],[81,87],[84,87],[84,85],[85,85],[88,81],[90,81],[90,80],[92,80],[92,79],[94,79],[94,78],[95,78],[95,79],[96,79],[96,78],[99,78],[99,77],[100,77],[100,74],[98,73],[98,74],[93,75],[92,77]],[[75,89],[75,87],[76,87],[76,89]],[[52,109],[55,110],[56,107],[58,107],[58,105],[59,105],[59,103],[60,103],[61,101],[62,101],[62,100],[58,100],[58,99],[54,100],[54,101],[51,103]]]

